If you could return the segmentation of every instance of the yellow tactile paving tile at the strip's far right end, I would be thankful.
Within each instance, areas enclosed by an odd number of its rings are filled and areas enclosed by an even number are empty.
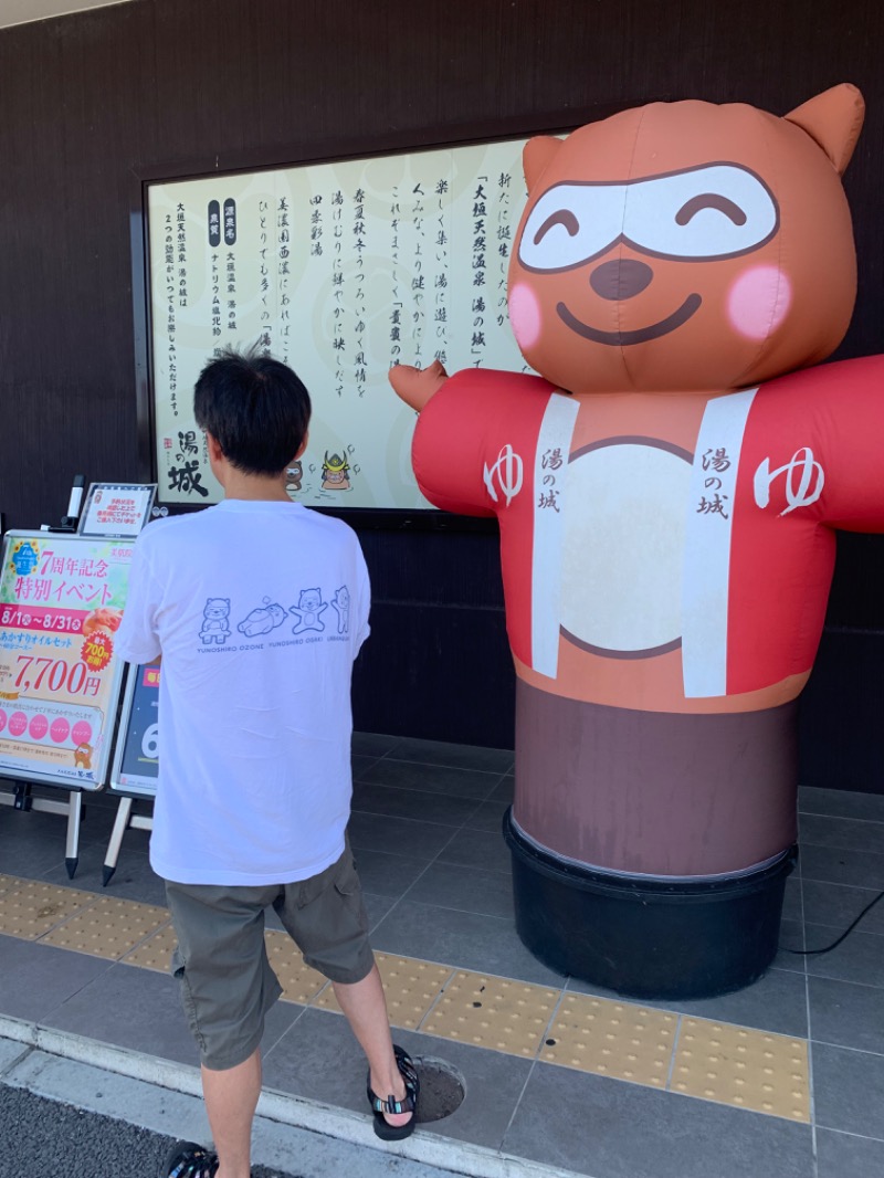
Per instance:
[[[809,1121],[807,1043],[685,1015],[671,1087],[704,1100]]]

